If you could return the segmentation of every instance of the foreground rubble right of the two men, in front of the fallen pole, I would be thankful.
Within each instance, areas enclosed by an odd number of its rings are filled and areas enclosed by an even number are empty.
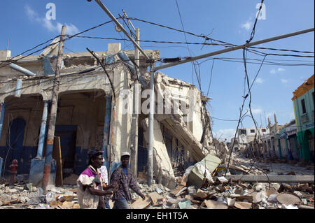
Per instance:
[[[132,195],[135,208],[141,209],[314,209],[314,185],[307,183],[245,183],[216,177],[213,185],[200,189],[139,185],[148,194],[142,206],[142,199]]]

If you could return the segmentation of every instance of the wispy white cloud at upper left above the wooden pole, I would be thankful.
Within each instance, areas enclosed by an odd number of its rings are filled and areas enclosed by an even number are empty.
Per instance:
[[[38,14],[28,5],[25,6],[26,14],[29,20],[41,23],[45,29],[53,33],[60,33],[62,30],[62,24],[59,22],[53,22],[53,20],[47,20],[45,17],[39,17]],[[74,24],[65,24],[66,34],[73,35],[79,32],[79,29]]]

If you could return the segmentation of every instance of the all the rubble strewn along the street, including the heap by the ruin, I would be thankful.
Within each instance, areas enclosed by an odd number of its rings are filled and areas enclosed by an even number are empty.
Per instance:
[[[207,156],[209,158],[209,156]],[[207,158],[206,157],[206,158]],[[208,161],[214,161],[217,157],[210,155]],[[246,176],[258,176],[266,178],[264,169],[248,168],[239,164],[240,159],[235,159],[234,164],[228,168],[228,173],[220,171],[221,163],[209,166],[207,159],[204,162],[206,171],[202,168],[202,161],[186,169],[186,173],[176,178],[177,186],[169,189],[162,184],[149,187],[146,183],[146,174],[139,172],[138,182],[141,191],[146,194],[146,199],[141,199],[132,192],[133,209],[314,209],[314,182],[244,182]],[[246,164],[246,163],[244,163]],[[290,165],[296,171],[307,171],[307,168]],[[204,176],[197,173],[201,169]],[[212,171],[214,169],[214,171]],[[223,170],[226,168],[223,168]],[[314,171],[314,167],[313,167]],[[233,173],[233,174],[232,174]],[[233,176],[241,178],[234,180]],[[272,174],[273,173],[273,174]],[[303,173],[302,173],[303,174]],[[199,175],[199,176],[198,176]],[[225,176],[224,176],[225,175]],[[277,178],[313,177],[311,175],[295,175],[293,171],[288,173],[270,172]],[[78,177],[73,175],[72,178]],[[243,179],[244,178],[244,179]],[[303,178],[304,179],[304,178]],[[303,180],[302,179],[302,180]],[[290,180],[290,179],[289,179]],[[246,180],[245,180],[246,181]],[[297,180],[298,181],[298,180]],[[75,180],[72,185],[55,187],[48,185],[47,192],[34,187],[25,180],[9,186],[8,180],[0,185],[0,209],[76,209],[80,208],[76,195]],[[195,185],[194,185],[195,184]],[[112,201],[110,206],[113,207]]]

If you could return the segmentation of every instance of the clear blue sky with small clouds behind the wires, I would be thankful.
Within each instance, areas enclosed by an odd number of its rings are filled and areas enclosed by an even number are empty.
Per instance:
[[[132,2],[132,3],[131,3]],[[210,1],[177,0],[183,27],[193,34],[208,35],[209,38],[234,44],[244,44],[250,37],[253,22],[258,11],[256,5],[260,0],[239,1]],[[54,3],[56,6],[56,20],[46,20],[48,11],[46,5]],[[122,9],[129,17],[137,17],[142,20],[164,24],[176,29],[182,29],[179,12],[175,0],[147,1],[147,0],[120,0],[105,1],[111,13],[118,17]],[[2,0],[0,3],[0,50],[6,49],[9,39],[9,50],[12,56],[19,55],[29,48],[48,41],[59,35],[62,24],[67,25],[68,34],[76,34],[102,22],[109,21],[109,17],[94,1],[86,0]],[[146,41],[186,41],[183,33],[157,27],[144,22],[133,21],[135,27],[140,29],[141,40]],[[314,27],[314,1],[292,1],[292,0],[269,0],[265,1],[265,20],[258,20],[253,41],[288,34],[293,31],[309,29]],[[123,34],[117,33],[114,25],[106,24],[84,36],[98,36],[106,38],[125,38]],[[203,43],[203,38],[197,38],[186,34],[188,42]],[[86,38],[72,38],[65,43],[65,52],[86,52],[85,48],[95,51],[107,50],[106,40],[93,40]],[[121,41],[122,48],[132,50],[132,45],[127,41]],[[280,48],[289,50],[301,50],[314,52],[314,32],[294,36],[271,43],[257,45],[265,48]],[[141,43],[144,49],[160,50],[161,57],[188,57],[196,56],[215,50],[222,46],[215,45],[189,45],[185,44],[162,44]],[[292,52],[261,50],[262,52],[273,52],[278,54],[295,54]],[[38,53],[37,53],[38,54]],[[314,54],[301,54],[312,55]],[[208,106],[213,119],[214,136],[221,140],[228,140],[234,136],[237,122],[218,120],[237,120],[239,108],[244,96],[244,64],[241,62],[242,50],[217,55],[221,60],[214,59],[212,69],[211,86],[209,97],[211,106]],[[223,61],[223,57],[239,59],[239,62]],[[247,54],[248,59],[262,59],[261,56],[251,52]],[[202,92],[207,95],[209,80],[211,77],[211,66],[213,58],[206,61],[200,59],[201,87]],[[279,124],[285,124],[294,119],[292,92],[314,73],[314,66],[284,66],[284,64],[314,64],[313,58],[304,57],[281,57],[269,55],[266,60],[280,64],[263,65],[258,78],[251,89],[251,108],[258,125],[265,127],[265,117],[273,121],[273,113],[276,113]],[[253,62],[253,61],[248,61]],[[257,62],[257,61],[256,61]],[[258,61],[259,63],[259,61]],[[248,77],[252,81],[260,64],[247,64]],[[193,83],[200,88],[192,64],[181,64],[169,69],[161,70],[172,78],[179,78]],[[248,100],[244,110],[248,109]],[[241,127],[253,127],[251,118],[246,117]]]

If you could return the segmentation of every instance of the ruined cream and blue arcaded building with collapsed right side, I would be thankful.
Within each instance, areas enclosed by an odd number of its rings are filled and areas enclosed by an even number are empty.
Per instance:
[[[47,128],[43,131],[43,127],[49,124],[47,116],[55,81],[56,46],[44,50],[41,55],[15,57],[18,61],[13,66],[0,69],[1,175],[7,175],[9,165],[17,159],[18,174],[29,174],[34,181],[32,165],[36,160],[45,159]],[[160,57],[159,51],[145,52],[152,60]],[[55,124],[62,174],[79,175],[87,166],[90,150],[103,150],[105,164],[108,168],[111,164],[112,170],[118,166],[120,154],[130,152],[130,168],[134,175],[145,172],[148,114],[139,109],[140,112],[134,115],[133,105],[137,98],[140,108],[148,106],[143,92],[148,89],[150,64],[140,57],[140,72],[137,73],[134,63],[130,63],[134,60],[134,51],[120,50],[120,43],[109,43],[107,51],[96,54],[111,81],[89,52],[62,55]],[[11,58],[9,50],[1,50],[0,56],[2,62]],[[21,73],[21,69],[27,69],[29,75],[24,71]],[[137,89],[139,92],[134,96]],[[219,156],[211,138],[211,122],[205,106],[209,99],[194,85],[160,72],[155,73],[155,98],[155,101],[162,99],[163,103],[155,104],[153,174],[158,183],[174,188],[175,170],[183,173],[209,152]],[[178,101],[185,106],[178,106]],[[161,108],[169,108],[171,112],[158,113]],[[190,112],[184,111],[186,109]],[[52,159],[51,175],[56,172],[55,159]],[[35,178],[34,184],[40,185],[42,175]]]

